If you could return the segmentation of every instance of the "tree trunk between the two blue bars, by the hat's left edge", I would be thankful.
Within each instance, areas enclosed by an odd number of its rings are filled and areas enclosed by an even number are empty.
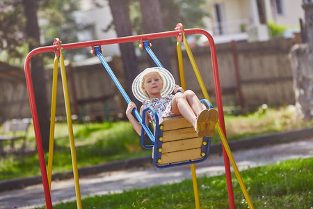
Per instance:
[[[131,36],[131,22],[129,19],[129,0],[109,0],[113,23],[118,37]],[[136,54],[134,43],[120,43],[120,52],[122,55],[122,64],[125,74],[127,88],[125,91],[129,95],[131,101],[139,105],[138,100],[131,91],[131,84],[138,75],[138,66],[136,62]]]

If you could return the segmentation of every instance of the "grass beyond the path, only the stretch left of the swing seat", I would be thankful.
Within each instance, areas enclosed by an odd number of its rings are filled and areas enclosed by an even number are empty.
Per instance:
[[[73,125],[78,167],[148,155],[129,122]],[[72,170],[70,139],[64,137],[66,123],[56,125],[56,148],[53,156],[53,173]],[[34,141],[35,139],[33,139]],[[35,146],[35,144],[34,144]],[[48,153],[45,155],[46,164]],[[40,175],[38,154],[27,156],[6,155],[0,158],[0,180]]]

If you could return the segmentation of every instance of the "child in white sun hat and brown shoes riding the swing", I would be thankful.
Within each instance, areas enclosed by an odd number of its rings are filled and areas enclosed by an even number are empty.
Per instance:
[[[143,109],[152,107],[161,119],[171,116],[182,115],[195,127],[198,137],[211,137],[214,134],[214,127],[218,122],[218,111],[216,109],[207,109],[200,102],[197,95],[191,90],[184,91],[182,87],[175,85],[175,79],[172,74],[164,68],[147,68],[141,72],[132,84],[134,96],[143,105],[140,114],[143,116]],[[174,91],[175,95],[171,95]],[[131,114],[136,108],[134,102],[129,102],[126,116],[134,127],[134,130],[141,136],[141,124]],[[152,111],[147,111],[145,123],[154,123],[155,118]]]

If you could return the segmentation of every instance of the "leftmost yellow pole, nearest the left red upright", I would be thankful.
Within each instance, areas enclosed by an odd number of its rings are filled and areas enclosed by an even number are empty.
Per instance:
[[[58,85],[58,57],[54,57],[54,74],[52,80],[52,96],[51,96],[51,121],[50,121],[50,137],[49,137],[49,158],[48,158],[48,183],[51,192],[51,176],[52,162],[54,157],[54,127],[56,121],[56,88]],[[47,204],[46,204],[47,208]]]

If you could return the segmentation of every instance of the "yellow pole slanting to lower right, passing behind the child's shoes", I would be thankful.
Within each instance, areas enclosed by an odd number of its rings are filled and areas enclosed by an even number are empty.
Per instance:
[[[203,95],[204,95],[204,98],[206,98],[207,100],[210,101],[210,99],[209,99],[209,94],[207,93],[207,88],[205,88],[205,86],[204,86],[204,83],[203,83],[203,81],[202,81],[200,72],[199,72],[199,70],[198,70],[198,66],[197,66],[196,63],[195,63],[195,59],[193,58],[193,54],[191,53],[191,49],[190,49],[190,47],[189,47],[189,45],[188,45],[188,42],[186,41],[186,38],[185,38],[184,33],[183,33],[183,37],[184,37],[183,40],[184,40],[184,45],[185,45],[185,48],[186,48],[186,52],[187,52],[187,54],[188,54],[188,56],[189,56],[189,59],[190,59],[190,61],[191,61],[191,64],[193,65],[193,70],[195,70],[195,75],[196,75],[196,77],[197,77],[197,79],[198,79],[198,82],[199,82],[199,84],[200,84],[200,86],[201,86],[201,89],[202,89],[202,93],[203,93]],[[210,101],[210,103],[211,103],[211,101]],[[237,177],[237,179],[238,179],[238,181],[239,181],[239,185],[240,185],[240,187],[241,187],[241,190],[242,190],[242,192],[243,192],[243,195],[244,195],[245,198],[246,198],[246,201],[247,201],[247,203],[248,203],[248,206],[249,206],[249,208],[253,208],[252,201],[251,201],[251,199],[250,199],[250,196],[249,196],[249,194],[248,194],[248,191],[247,191],[247,189],[246,189],[246,186],[245,186],[244,183],[243,183],[243,180],[242,180],[242,178],[241,178],[239,169],[238,169],[238,167],[236,166],[236,162],[234,161],[234,157],[232,156],[232,152],[230,151],[230,146],[228,146],[228,143],[227,143],[225,134],[224,134],[222,128],[220,127],[220,122],[218,122],[218,123],[216,124],[216,127],[217,127],[217,129],[218,129],[218,133],[220,134],[220,139],[222,139],[222,143],[223,143],[223,146],[225,147],[225,150],[226,150],[226,152],[227,152],[227,155],[228,155],[228,157],[230,158],[230,162],[232,163],[232,168],[234,169],[234,172],[235,172],[236,177]]]

